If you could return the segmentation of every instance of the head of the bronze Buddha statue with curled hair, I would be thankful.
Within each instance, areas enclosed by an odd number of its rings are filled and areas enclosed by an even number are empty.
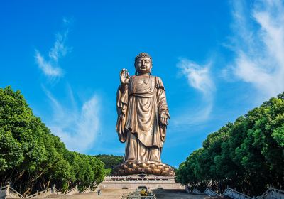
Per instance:
[[[148,53],[139,53],[135,58],[134,65],[137,75],[151,73],[152,58]]]

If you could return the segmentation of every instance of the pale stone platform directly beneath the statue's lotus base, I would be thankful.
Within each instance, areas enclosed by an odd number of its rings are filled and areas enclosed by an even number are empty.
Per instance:
[[[107,176],[99,184],[100,189],[131,189],[135,190],[138,186],[144,185],[148,189],[183,189],[185,186],[175,183],[175,179],[170,176],[146,176],[141,179],[137,175],[132,176]]]

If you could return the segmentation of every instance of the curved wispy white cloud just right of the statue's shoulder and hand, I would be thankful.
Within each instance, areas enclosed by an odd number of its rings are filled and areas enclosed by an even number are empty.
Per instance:
[[[178,68],[187,78],[188,85],[202,94],[200,107],[187,109],[180,117],[173,121],[174,125],[198,125],[206,121],[212,112],[215,85],[210,76],[210,65],[199,65],[192,60],[180,59]]]

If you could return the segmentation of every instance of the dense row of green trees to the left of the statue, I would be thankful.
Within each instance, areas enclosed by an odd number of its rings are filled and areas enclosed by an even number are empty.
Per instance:
[[[104,179],[104,163],[94,156],[68,151],[21,92],[0,89],[0,186],[11,184],[24,195],[55,185],[67,190]]]

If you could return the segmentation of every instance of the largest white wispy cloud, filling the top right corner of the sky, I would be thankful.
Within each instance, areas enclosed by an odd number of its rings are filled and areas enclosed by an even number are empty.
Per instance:
[[[258,90],[263,99],[284,90],[284,5],[283,1],[233,1],[234,23],[231,49],[236,53],[228,67]]]

